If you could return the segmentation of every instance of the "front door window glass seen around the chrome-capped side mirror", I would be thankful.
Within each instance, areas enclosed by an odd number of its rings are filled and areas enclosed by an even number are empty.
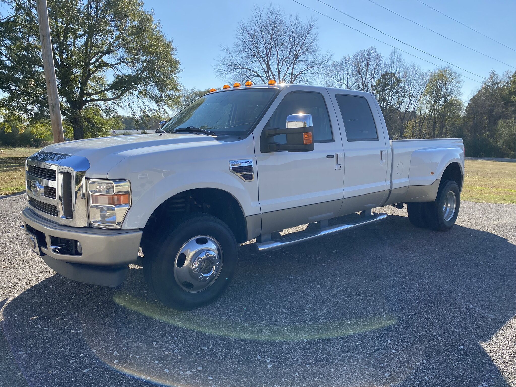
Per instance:
[[[285,95],[266,126],[283,129],[286,127],[287,117],[291,114],[299,113],[312,115],[315,142],[333,140],[328,109],[326,108],[324,97],[320,93],[294,91]],[[280,134],[274,136],[273,141],[285,144],[286,135]]]

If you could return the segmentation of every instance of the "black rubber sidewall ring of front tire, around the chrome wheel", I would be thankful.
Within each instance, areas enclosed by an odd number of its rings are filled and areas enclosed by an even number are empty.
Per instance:
[[[207,235],[216,239],[221,248],[222,268],[217,279],[201,292],[185,291],[175,280],[175,257],[191,238]],[[151,281],[156,297],[176,309],[189,310],[213,302],[233,278],[237,263],[237,247],[233,234],[216,219],[200,219],[184,222],[156,248],[151,266]]]

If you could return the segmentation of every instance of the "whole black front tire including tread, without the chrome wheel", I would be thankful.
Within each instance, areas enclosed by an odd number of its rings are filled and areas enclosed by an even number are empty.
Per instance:
[[[167,307],[185,311],[202,307],[220,297],[234,276],[238,257],[235,236],[228,225],[212,215],[193,213],[164,228],[160,234],[154,239],[152,247],[146,246],[149,256],[146,254],[143,260],[145,281],[156,298]],[[180,249],[197,236],[216,240],[220,246],[217,251],[222,265],[213,282],[194,293],[184,288],[188,282],[178,283],[174,269],[177,270],[176,256]],[[199,239],[202,238],[195,240]],[[186,265],[184,263],[181,267],[189,267]],[[179,263],[177,267],[180,267]]]

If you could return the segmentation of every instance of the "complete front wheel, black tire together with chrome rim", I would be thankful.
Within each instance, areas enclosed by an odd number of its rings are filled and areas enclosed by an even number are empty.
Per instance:
[[[189,214],[155,239],[143,261],[146,283],[170,308],[199,308],[215,301],[233,278],[236,246],[233,233],[220,219]]]

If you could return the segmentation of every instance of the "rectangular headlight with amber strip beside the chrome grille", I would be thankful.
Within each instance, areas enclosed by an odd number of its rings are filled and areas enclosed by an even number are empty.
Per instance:
[[[120,229],[131,206],[127,180],[88,180],[90,224],[92,227]]]

